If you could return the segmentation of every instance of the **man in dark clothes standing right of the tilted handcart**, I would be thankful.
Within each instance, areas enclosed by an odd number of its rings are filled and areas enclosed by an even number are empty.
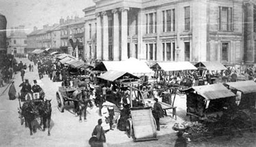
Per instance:
[[[158,103],[158,99],[154,99],[156,103],[154,103],[154,110],[152,111],[153,116],[156,120],[156,130],[160,131],[160,123],[159,120],[164,116],[164,110],[162,110],[162,106],[160,103]]]

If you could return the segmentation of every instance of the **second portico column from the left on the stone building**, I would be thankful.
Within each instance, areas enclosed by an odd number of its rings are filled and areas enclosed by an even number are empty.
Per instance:
[[[109,18],[106,12],[102,12],[102,23],[103,23],[103,59],[105,61],[109,60]]]

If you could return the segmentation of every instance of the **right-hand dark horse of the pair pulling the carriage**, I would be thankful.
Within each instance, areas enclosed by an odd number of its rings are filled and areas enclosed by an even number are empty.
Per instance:
[[[51,113],[52,113],[52,108],[51,108],[51,100],[46,100],[42,101],[38,105],[38,112],[41,117],[41,122],[40,125],[44,125],[44,128],[42,131],[45,131],[46,128],[46,121],[48,122],[48,135],[51,135],[50,133],[50,122],[51,122]]]

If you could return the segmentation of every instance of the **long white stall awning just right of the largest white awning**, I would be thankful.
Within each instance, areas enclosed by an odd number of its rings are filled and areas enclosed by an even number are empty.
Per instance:
[[[181,71],[181,70],[196,70],[190,62],[168,62],[168,63],[156,63],[151,67],[152,69],[162,69],[163,71]]]

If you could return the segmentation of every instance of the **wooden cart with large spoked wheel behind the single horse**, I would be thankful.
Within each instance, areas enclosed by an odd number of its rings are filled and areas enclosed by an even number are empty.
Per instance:
[[[75,91],[79,91],[78,87],[66,87],[66,86],[59,86],[59,91],[56,92],[56,99],[58,103],[58,109],[60,112],[64,112],[64,105],[68,101],[76,101],[74,98],[78,93]]]

